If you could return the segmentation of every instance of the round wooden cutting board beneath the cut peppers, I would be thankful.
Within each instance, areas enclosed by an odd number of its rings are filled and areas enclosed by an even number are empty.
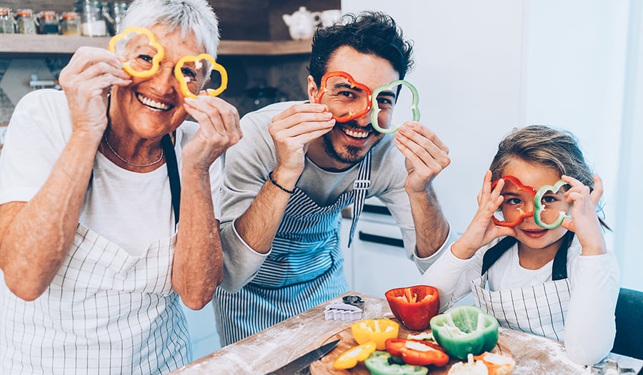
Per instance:
[[[391,317],[392,320],[397,322],[397,319]],[[404,327],[402,324],[399,325],[399,334],[397,335],[400,339],[406,339],[409,334],[419,334],[423,331],[410,331],[406,327]],[[427,329],[424,332],[431,332],[431,329]],[[330,337],[327,337],[323,341],[319,343],[319,346],[321,344],[326,344],[327,342],[334,341],[339,339],[339,343],[337,346],[335,346],[335,349],[333,349],[329,354],[326,356],[321,357],[321,359],[318,359],[314,361],[310,365],[310,374],[311,375],[340,375],[340,374],[352,374],[352,375],[370,375],[371,371],[367,369],[367,366],[364,365],[364,362],[359,362],[357,366],[355,366],[352,369],[348,370],[336,370],[333,369],[333,362],[335,359],[337,359],[344,351],[347,351],[348,349],[351,349],[353,346],[357,346],[357,341],[353,338],[353,334],[351,332],[351,324],[347,324],[343,326],[339,332],[332,334]],[[492,350],[494,353],[499,353],[499,354],[504,354],[507,356],[512,356],[511,351],[503,345],[503,338],[502,336],[498,340],[498,344]],[[458,362],[459,360],[457,359],[452,359],[449,361],[448,364],[445,366],[437,367],[437,366],[429,366],[429,374],[431,375],[446,375],[449,369],[451,368],[452,364]]]

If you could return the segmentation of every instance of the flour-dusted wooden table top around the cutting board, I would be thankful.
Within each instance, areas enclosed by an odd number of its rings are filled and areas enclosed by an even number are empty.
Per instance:
[[[364,319],[393,317],[385,299],[356,292],[347,294],[359,295],[364,299]],[[332,302],[341,300],[342,297],[338,297]],[[329,303],[330,301],[320,304],[251,337],[224,346],[171,374],[266,374],[278,369],[302,354],[316,349],[338,332],[343,332],[351,323],[326,320],[324,308]],[[560,341],[502,327],[499,329],[499,336],[503,346],[510,348],[516,361],[514,374],[596,373],[592,372],[591,368],[575,364],[567,358]],[[643,367],[643,361],[627,356],[609,354],[607,359],[617,361],[622,369],[634,369],[630,374],[637,374]],[[342,373],[347,374],[346,371],[340,372]],[[429,374],[431,373],[429,371]]]

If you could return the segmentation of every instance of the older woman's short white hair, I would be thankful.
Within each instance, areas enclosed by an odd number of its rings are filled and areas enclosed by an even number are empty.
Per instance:
[[[169,30],[181,29],[185,38],[194,33],[196,43],[216,58],[219,21],[206,0],[134,0],[126,11],[119,32],[129,26],[149,29],[161,24]],[[160,41],[161,45],[163,41]]]

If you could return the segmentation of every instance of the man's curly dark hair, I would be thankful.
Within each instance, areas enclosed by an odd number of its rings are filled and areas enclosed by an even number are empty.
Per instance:
[[[387,59],[399,73],[399,79],[404,79],[413,66],[413,44],[404,40],[402,30],[391,16],[376,11],[345,14],[337,24],[319,28],[313,36],[308,71],[317,85],[327,73],[329,58],[341,46]]]

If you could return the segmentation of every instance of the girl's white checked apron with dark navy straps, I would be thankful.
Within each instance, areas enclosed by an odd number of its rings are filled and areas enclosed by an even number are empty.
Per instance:
[[[562,341],[564,318],[572,297],[571,282],[567,279],[567,249],[573,237],[574,233],[567,231],[554,256],[552,281],[492,292],[487,288],[487,271],[516,243],[514,237],[505,237],[487,250],[482,260],[482,276],[471,282],[475,304],[493,314],[502,327]]]

